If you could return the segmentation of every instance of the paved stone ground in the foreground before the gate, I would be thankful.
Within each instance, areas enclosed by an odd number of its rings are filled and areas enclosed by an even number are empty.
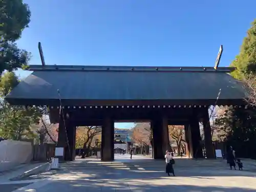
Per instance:
[[[176,167],[176,177],[167,177],[164,170],[154,167],[127,168],[102,164],[95,168],[73,166],[73,162],[60,170],[31,176],[26,181],[36,181],[15,192],[25,191],[182,191],[182,192],[251,192],[256,191],[256,174],[253,172],[211,167]],[[164,167],[164,165],[163,165]],[[159,169],[158,167],[157,169]],[[37,179],[37,180],[34,180]],[[0,191],[5,191],[1,190]],[[5,191],[6,192],[6,191]],[[7,191],[9,192],[9,191]]]

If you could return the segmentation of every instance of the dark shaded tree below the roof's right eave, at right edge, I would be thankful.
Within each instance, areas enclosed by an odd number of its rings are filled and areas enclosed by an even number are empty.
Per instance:
[[[229,108],[216,119],[220,136],[239,157],[256,159],[256,116],[254,110]]]

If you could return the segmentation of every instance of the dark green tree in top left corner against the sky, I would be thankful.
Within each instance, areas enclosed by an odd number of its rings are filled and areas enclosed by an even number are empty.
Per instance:
[[[30,14],[23,0],[0,0],[0,75],[27,65],[30,54],[18,49],[15,41],[28,27]]]

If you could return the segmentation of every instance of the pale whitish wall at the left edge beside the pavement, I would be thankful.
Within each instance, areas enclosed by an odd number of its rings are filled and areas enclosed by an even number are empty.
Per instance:
[[[31,142],[4,140],[0,142],[0,171],[32,160]]]

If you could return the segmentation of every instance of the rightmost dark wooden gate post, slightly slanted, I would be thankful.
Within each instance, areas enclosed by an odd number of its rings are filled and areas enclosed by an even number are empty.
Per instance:
[[[206,150],[206,158],[214,159],[216,158],[216,156],[214,151],[214,145],[212,144],[212,140],[211,140],[211,127],[210,127],[208,109],[203,111],[202,120],[203,120],[203,127],[204,127],[204,145]]]

